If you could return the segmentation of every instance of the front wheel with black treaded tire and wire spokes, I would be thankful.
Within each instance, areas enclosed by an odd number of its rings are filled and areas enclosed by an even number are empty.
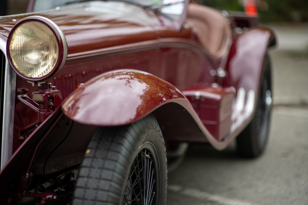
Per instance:
[[[166,197],[166,149],[155,117],[98,128],[80,167],[73,204],[153,205],[165,204]]]

